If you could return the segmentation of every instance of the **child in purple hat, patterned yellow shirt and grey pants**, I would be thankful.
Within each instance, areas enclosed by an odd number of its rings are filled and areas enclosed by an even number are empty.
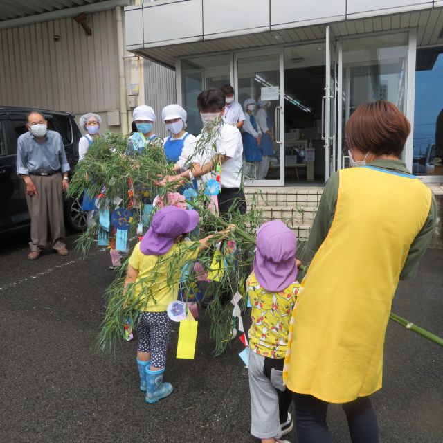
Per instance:
[[[268,221],[257,230],[253,272],[246,287],[252,305],[248,333],[251,434],[262,443],[287,442],[278,439],[293,428],[288,412],[292,392],[283,382],[283,364],[300,287],[296,251],[296,234],[282,221]]]

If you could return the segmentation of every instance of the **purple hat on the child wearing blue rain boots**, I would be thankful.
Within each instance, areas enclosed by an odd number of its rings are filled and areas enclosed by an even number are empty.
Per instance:
[[[172,248],[176,237],[191,232],[197,224],[197,211],[165,206],[152,217],[151,227],[141,239],[140,251],[145,255],[163,255]]]

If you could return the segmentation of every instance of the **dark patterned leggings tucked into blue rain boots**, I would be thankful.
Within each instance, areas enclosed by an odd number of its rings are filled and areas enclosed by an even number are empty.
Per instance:
[[[138,351],[151,353],[151,366],[165,368],[171,320],[166,311],[138,313]]]

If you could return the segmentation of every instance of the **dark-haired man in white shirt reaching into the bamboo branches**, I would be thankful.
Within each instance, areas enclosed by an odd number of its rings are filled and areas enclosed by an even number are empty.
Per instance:
[[[204,138],[206,124],[221,118],[225,104],[225,96],[221,89],[206,89],[197,97],[197,107],[201,114],[204,127],[197,136],[195,152],[189,168],[177,176],[165,177],[163,181],[192,180],[199,178],[206,183],[209,179],[216,179],[217,165],[221,165],[220,185],[218,195],[219,212],[221,215],[230,211],[239,210],[246,213],[246,200],[242,190],[243,143],[239,130],[221,121],[215,140],[199,143]]]

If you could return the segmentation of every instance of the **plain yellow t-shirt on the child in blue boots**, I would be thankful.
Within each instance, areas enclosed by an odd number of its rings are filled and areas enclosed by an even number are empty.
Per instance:
[[[140,243],[136,245],[129,264],[138,270],[133,298],[140,299],[140,311],[163,312],[177,300],[181,269],[195,260],[199,246],[199,242],[181,242],[163,255],[145,255]]]

